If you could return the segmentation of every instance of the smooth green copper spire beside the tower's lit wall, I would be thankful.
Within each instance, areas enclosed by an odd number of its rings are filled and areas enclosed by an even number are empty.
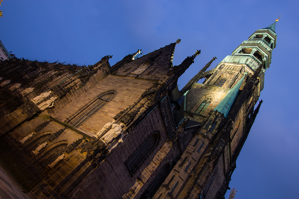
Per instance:
[[[228,91],[223,100],[216,106],[216,108],[214,108],[214,111],[221,112],[225,118],[227,117],[228,112],[231,109],[231,105],[233,105],[245,75],[247,74],[247,72],[244,73],[243,77],[238,81],[238,83]]]

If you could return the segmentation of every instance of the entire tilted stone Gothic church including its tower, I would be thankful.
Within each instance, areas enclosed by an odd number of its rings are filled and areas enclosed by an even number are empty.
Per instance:
[[[173,66],[180,40],[113,66],[111,56],[88,67],[1,61],[6,184],[39,199],[224,198],[262,103],[254,109],[275,24],[206,71],[214,57],[182,90],[178,78],[200,51]]]

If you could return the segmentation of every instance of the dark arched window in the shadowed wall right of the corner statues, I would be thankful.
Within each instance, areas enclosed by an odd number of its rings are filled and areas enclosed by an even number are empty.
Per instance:
[[[138,149],[125,161],[127,168],[132,176],[134,176],[144,162],[147,156],[158,146],[160,133],[154,131],[147,139],[138,147]]]

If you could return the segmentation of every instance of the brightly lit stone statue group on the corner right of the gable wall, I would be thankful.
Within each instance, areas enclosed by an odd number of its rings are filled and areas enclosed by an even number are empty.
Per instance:
[[[104,125],[104,127],[99,132],[97,132],[97,136],[100,136],[105,132],[106,129],[111,127],[111,129],[108,132],[106,132],[104,135],[102,135],[102,137],[100,138],[100,141],[102,141],[100,148],[102,149],[120,135],[118,141],[115,141],[112,144],[112,146],[109,147],[108,149],[109,152],[111,152],[111,150],[114,149],[118,145],[118,143],[123,142],[123,137],[124,137],[124,133],[122,133],[123,130],[122,127],[124,127],[123,123],[114,124],[114,122],[115,120],[113,120],[112,122],[108,122],[107,124]]]

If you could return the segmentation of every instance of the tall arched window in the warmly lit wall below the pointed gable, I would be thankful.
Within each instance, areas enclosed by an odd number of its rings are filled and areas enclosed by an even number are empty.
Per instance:
[[[86,120],[88,120],[92,115],[99,111],[105,104],[111,101],[116,95],[115,91],[104,92],[94,99],[92,99],[88,104],[86,104],[83,109],[78,110],[77,113],[72,116],[70,124],[74,127],[79,127]]]

